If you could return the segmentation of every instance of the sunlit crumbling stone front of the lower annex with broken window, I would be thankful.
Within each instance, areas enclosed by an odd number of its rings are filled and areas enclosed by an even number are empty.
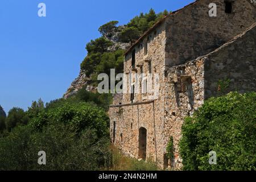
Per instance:
[[[184,117],[192,115],[204,103],[204,59],[189,61],[167,71],[164,100],[163,146],[174,138],[174,155],[171,167],[182,167],[179,140]],[[164,153],[166,148],[164,148]],[[166,160],[166,159],[163,159]]]

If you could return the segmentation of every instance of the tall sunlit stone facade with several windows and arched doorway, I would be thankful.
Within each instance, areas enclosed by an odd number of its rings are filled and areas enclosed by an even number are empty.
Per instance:
[[[148,51],[144,54],[144,42],[148,40]],[[157,161],[162,164],[163,147],[163,109],[164,109],[164,48],[166,43],[166,32],[164,23],[160,24],[155,31],[152,31],[145,37],[141,43],[135,46],[135,69],[131,65],[131,52],[125,57],[124,73],[144,73],[159,74],[160,94],[159,97],[151,103],[123,106],[118,109],[119,123],[115,135],[115,145],[121,148],[124,154],[140,158],[139,156],[139,129],[141,127],[147,130],[146,157],[147,160]],[[151,64],[151,70],[149,66]],[[154,79],[154,77],[153,77]],[[154,84],[154,81],[153,83]],[[128,89],[128,88],[127,88]],[[140,88],[141,89],[141,88]],[[150,94],[136,93],[134,102],[149,101],[147,97]],[[130,94],[123,94],[122,104],[129,104]],[[110,110],[114,110],[110,109]],[[122,137],[121,137],[122,136]]]

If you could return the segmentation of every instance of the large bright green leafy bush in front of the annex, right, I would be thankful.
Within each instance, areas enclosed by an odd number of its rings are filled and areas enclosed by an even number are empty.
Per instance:
[[[185,170],[256,169],[256,93],[210,98],[185,119],[180,153]],[[209,152],[217,153],[210,165]]]

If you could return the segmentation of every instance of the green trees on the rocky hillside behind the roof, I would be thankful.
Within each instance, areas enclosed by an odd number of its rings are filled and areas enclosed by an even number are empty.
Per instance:
[[[113,46],[113,43],[104,38],[104,36],[107,38],[111,37],[113,30],[117,28],[117,32],[119,32],[118,41],[130,42],[132,44],[143,32],[147,31],[148,28],[152,27],[155,22],[165,15],[168,15],[167,10],[164,10],[163,13],[156,14],[153,9],[150,9],[146,14],[141,13],[139,16],[135,16],[124,28],[116,27],[118,21],[111,21],[102,25],[98,31],[103,36],[96,40],[91,40],[86,44],[88,55],[80,65],[87,77],[92,76],[92,84],[97,84],[97,75],[99,73],[109,74],[110,68],[115,69],[118,73],[123,72],[124,51],[121,49],[108,51],[108,48]]]

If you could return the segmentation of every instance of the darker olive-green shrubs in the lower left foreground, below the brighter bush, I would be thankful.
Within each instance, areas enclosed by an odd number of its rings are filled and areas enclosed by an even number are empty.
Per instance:
[[[109,165],[108,138],[97,138],[93,130],[78,137],[64,123],[53,122],[36,132],[16,127],[0,138],[0,170],[97,170]],[[46,152],[46,165],[38,164],[38,152]]]

